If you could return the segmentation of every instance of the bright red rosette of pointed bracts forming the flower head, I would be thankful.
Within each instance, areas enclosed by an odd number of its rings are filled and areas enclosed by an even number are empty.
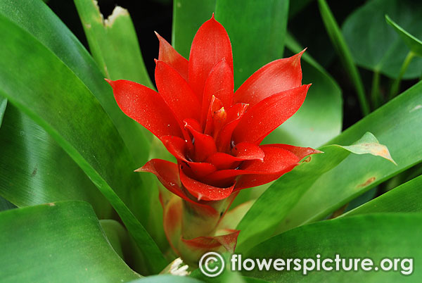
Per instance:
[[[264,65],[234,92],[231,43],[214,17],[196,33],[188,61],[158,39],[158,92],[108,80],[122,111],[177,158],[177,164],[153,159],[139,171],[152,172],[186,201],[204,203],[276,180],[316,153],[286,144],[260,145],[305,100],[310,84],[302,85],[303,51]]]

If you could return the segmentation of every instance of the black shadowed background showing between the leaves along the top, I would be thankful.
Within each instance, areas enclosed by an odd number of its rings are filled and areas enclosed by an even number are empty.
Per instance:
[[[293,1],[290,1],[290,8]],[[333,0],[328,1],[328,5],[333,11],[338,24],[341,25],[343,20],[347,18],[347,15],[364,4],[364,2],[364,0]],[[73,1],[49,0],[47,4],[72,30],[82,44],[89,49]],[[153,77],[153,69],[155,68],[153,59],[158,57],[158,39],[155,37],[154,31],[157,31],[170,42],[172,34],[172,0],[98,0],[98,5],[104,18],[107,18],[117,5],[127,8],[136,28],[146,68],[151,77]],[[290,17],[288,29],[302,46],[307,46],[307,52],[323,65],[340,85],[344,100],[343,128],[345,129],[360,120],[362,113],[357,103],[357,96],[340,61],[335,56],[324,24],[319,16],[319,8],[316,1],[310,1],[302,11]],[[362,73],[362,79],[364,80],[366,89],[370,89],[371,74],[367,70],[359,70]]]

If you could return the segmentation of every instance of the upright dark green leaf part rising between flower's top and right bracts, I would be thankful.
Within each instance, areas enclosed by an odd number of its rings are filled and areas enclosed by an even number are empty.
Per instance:
[[[226,28],[233,49],[235,89],[263,65],[283,57],[288,2],[216,1],[215,18]]]

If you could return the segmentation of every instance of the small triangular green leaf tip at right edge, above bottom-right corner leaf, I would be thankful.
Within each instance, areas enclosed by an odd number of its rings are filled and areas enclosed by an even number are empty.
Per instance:
[[[422,211],[422,175],[341,215]]]

